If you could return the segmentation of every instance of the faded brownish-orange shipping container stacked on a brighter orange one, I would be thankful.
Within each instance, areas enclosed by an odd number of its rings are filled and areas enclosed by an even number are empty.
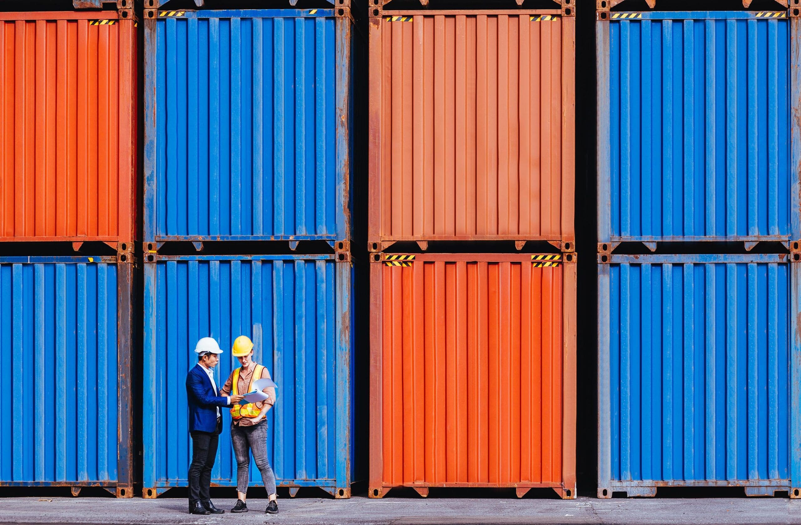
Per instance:
[[[573,250],[575,13],[369,19],[368,248],[547,240]]]

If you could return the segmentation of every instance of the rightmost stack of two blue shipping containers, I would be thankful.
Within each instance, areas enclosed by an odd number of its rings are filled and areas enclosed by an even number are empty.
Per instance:
[[[598,496],[799,497],[799,8],[598,6]]]

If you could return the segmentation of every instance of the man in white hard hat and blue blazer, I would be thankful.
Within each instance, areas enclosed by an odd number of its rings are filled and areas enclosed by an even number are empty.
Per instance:
[[[192,463],[189,466],[189,512],[191,514],[222,514],[223,510],[211,503],[209,485],[211,467],[217,457],[217,441],[223,431],[223,417],[219,407],[239,404],[242,395],[217,395],[214,367],[223,353],[211,337],[200,339],[195,345],[198,363],[187,374],[187,401],[189,402],[189,433],[192,436]]]

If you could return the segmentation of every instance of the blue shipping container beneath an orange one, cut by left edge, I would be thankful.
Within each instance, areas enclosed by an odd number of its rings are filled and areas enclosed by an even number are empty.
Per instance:
[[[133,266],[0,257],[0,486],[133,496]]]

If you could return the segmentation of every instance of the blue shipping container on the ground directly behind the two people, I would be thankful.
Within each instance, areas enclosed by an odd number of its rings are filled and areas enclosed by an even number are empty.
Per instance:
[[[168,418],[162,408],[186,406],[195,343],[211,336],[225,350],[215,369],[222,385],[239,366],[233,340],[248,335],[256,361],[278,384],[278,402],[267,416],[277,482],[349,497],[350,264],[334,262],[333,255],[153,258],[145,263],[145,496],[187,486],[188,422]],[[229,426],[225,414],[211,483],[235,487]],[[252,485],[261,485],[255,464],[250,475]]]

